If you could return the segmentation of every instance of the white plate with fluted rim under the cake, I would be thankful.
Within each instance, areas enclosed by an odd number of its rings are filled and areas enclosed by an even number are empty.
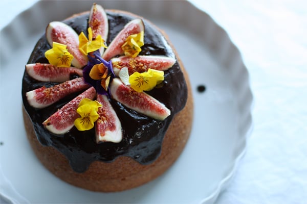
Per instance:
[[[169,35],[192,83],[195,112],[190,140],[166,173],[124,192],[86,191],[62,182],[46,170],[33,154],[24,130],[21,114],[24,66],[48,22],[89,10],[92,2],[38,2],[18,15],[0,36],[2,195],[16,203],[213,202],[244,154],[252,123],[248,72],[237,48],[206,13],[188,2],[97,3],[106,9],[142,15]],[[198,92],[199,85],[205,85],[206,91]]]

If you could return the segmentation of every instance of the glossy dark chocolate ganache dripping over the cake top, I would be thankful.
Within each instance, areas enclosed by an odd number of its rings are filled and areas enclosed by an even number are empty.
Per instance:
[[[134,17],[110,11],[106,13],[109,23],[109,33],[106,39],[108,45],[123,29],[124,25]],[[70,25],[79,35],[81,32],[87,33],[88,20],[89,14],[83,14],[63,22]],[[144,19],[143,21],[145,25],[144,45],[140,55],[162,55],[176,58],[163,35],[150,22]],[[43,35],[35,45],[28,64],[49,63],[45,58],[45,52],[48,49],[51,49],[51,46]],[[73,79],[76,76],[71,77]],[[44,146],[53,146],[62,152],[76,172],[86,171],[93,161],[112,162],[119,156],[131,157],[144,165],[152,163],[160,155],[163,138],[170,122],[174,115],[184,108],[187,100],[187,86],[184,75],[178,62],[176,62],[170,69],[164,71],[162,86],[147,92],[161,101],[171,111],[171,115],[165,120],[159,121],[126,108],[113,98],[109,98],[121,121],[123,139],[119,143],[104,142],[97,144],[95,128],[89,131],[78,131],[74,126],[68,133],[55,135],[42,125],[43,121],[81,93],[70,94],[43,109],[36,109],[29,105],[26,92],[42,86],[51,87],[56,84],[34,80],[25,71],[22,88],[24,107],[32,120],[39,142]]]

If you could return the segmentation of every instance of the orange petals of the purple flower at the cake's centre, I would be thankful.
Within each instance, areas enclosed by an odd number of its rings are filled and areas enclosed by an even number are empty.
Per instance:
[[[108,69],[103,63],[95,64],[92,67],[90,71],[90,77],[93,80],[101,80],[101,86],[103,87],[104,90],[107,91],[111,75],[108,74]]]

